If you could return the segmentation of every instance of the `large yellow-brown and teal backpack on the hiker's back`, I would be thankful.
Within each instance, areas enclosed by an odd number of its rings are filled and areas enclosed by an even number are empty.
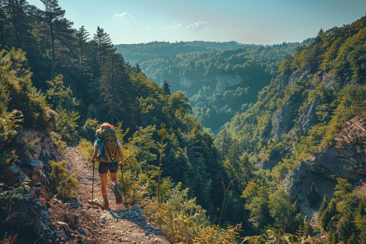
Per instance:
[[[114,129],[108,128],[104,129],[103,133],[98,133],[97,144],[101,151],[101,154],[98,156],[99,162],[117,162],[117,135]]]

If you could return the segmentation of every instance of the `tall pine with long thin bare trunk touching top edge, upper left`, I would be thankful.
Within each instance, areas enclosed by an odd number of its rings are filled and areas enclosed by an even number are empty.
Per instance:
[[[41,0],[45,6],[44,14],[44,33],[49,34],[51,38],[51,78],[55,76],[56,62],[55,46],[57,45],[60,50],[65,46],[72,47],[72,34],[74,30],[71,29],[73,22],[64,18],[65,10],[59,6],[58,0]]]

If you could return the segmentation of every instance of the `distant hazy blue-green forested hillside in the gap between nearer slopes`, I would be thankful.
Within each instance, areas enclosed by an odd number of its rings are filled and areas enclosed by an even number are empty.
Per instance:
[[[210,52],[184,52],[177,49],[176,45],[213,45],[212,42],[152,42],[145,45],[124,45],[124,49],[117,45],[117,52],[122,55],[138,53],[135,49],[139,47],[144,52],[155,53],[157,57],[141,57],[137,61],[141,70],[158,84],[167,80],[172,91],[186,91],[188,97],[191,97],[190,104],[195,117],[202,119],[205,127],[217,133],[237,112],[246,109],[246,106],[242,108],[243,104],[257,101],[258,91],[278,75],[278,65],[286,55],[292,55],[296,46],[309,45],[312,41],[309,38],[301,44],[284,42],[266,46],[224,42],[216,43],[216,47],[228,50]],[[227,44],[225,48],[224,44]],[[170,50],[171,55],[161,55],[168,52],[161,50],[160,46]],[[127,60],[135,62],[133,59]]]

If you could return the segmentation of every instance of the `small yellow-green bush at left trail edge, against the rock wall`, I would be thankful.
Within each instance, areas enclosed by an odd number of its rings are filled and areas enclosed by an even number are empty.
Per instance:
[[[79,181],[75,174],[70,174],[66,169],[66,161],[51,161],[52,171],[49,179],[52,182],[53,189],[61,198],[71,198],[77,196],[76,187]]]

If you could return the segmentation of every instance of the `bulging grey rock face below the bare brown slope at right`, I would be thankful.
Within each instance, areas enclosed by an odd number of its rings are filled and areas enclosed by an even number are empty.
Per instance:
[[[331,197],[338,177],[347,178],[351,182],[366,180],[365,169],[359,168],[360,164],[366,165],[366,154],[358,153],[356,146],[324,148],[287,174],[284,180],[285,191],[290,199],[301,196],[298,200],[305,201],[306,194],[314,183],[321,196],[327,194]]]

